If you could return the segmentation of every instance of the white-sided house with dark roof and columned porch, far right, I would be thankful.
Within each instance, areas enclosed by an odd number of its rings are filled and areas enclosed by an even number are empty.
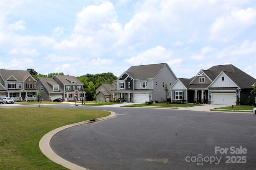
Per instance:
[[[200,70],[196,76],[178,78],[172,84],[172,101],[236,105],[246,104],[256,79],[232,64],[212,66]]]

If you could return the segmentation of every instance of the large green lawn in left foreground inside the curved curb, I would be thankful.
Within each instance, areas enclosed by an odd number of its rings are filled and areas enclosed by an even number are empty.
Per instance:
[[[61,109],[50,107],[0,109],[0,169],[61,170],[38,147],[49,131],[110,115],[108,111]]]

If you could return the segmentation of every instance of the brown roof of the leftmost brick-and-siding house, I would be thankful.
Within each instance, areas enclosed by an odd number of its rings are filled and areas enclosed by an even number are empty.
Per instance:
[[[5,69],[1,69],[0,70],[0,74],[2,76],[2,78],[4,79],[4,81],[8,80],[10,77],[14,77],[16,80],[18,80],[18,82],[24,82],[29,76],[31,76],[31,74],[29,73],[28,70],[5,70]],[[33,78],[31,76],[31,78]],[[36,81],[33,78],[34,81]]]

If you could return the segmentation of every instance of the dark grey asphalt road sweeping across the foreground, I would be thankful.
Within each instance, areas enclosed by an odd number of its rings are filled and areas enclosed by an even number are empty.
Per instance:
[[[60,131],[50,142],[56,154],[90,170],[256,167],[256,115],[253,114],[61,107],[116,112],[111,119]]]

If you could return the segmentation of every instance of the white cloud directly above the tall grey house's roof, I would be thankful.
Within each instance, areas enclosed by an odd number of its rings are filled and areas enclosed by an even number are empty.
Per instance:
[[[173,51],[157,46],[124,61],[133,65],[162,63],[169,61],[172,54]]]

